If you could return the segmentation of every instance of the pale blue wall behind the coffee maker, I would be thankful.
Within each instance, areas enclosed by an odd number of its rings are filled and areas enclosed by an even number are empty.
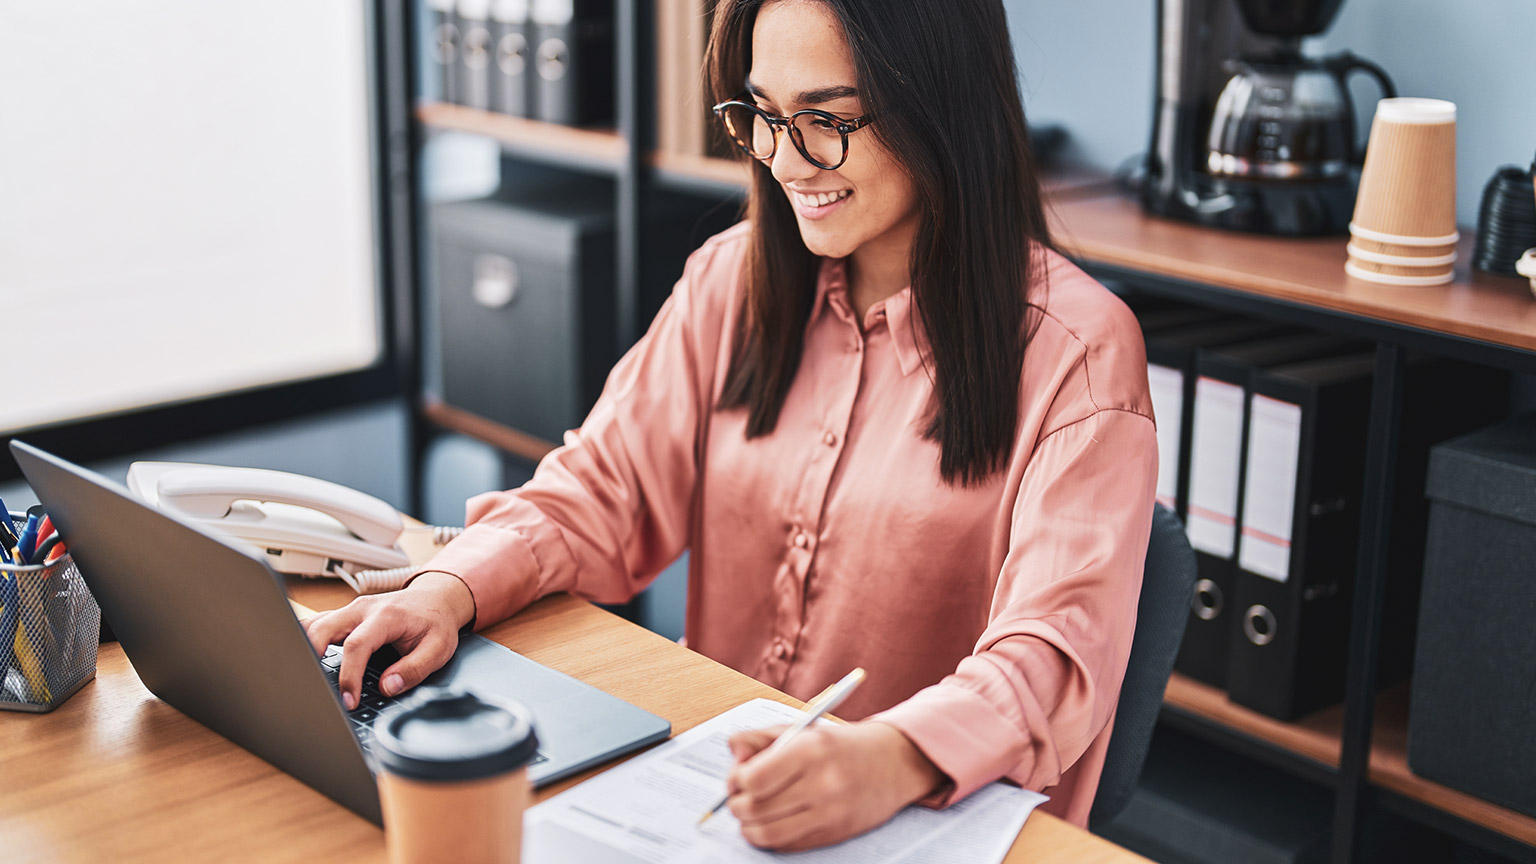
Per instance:
[[[1025,108],[1061,123],[1071,157],[1114,169],[1146,151],[1152,120],[1155,0],[1005,0]],[[1458,106],[1458,218],[1476,224],[1501,164],[1536,152],[1536,3],[1531,0],[1346,0],[1312,52],[1350,49],[1392,74],[1401,95]],[[1361,140],[1376,94],[1355,89]]]

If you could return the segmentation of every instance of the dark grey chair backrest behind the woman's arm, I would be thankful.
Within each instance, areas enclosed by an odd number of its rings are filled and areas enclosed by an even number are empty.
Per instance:
[[[1089,827],[1115,818],[1141,779],[1152,727],[1163,707],[1163,690],[1174,672],[1174,656],[1189,621],[1189,598],[1195,590],[1195,552],[1189,547],[1184,524],[1167,507],[1152,507],[1152,537],[1137,603],[1137,632],[1130,643],[1130,663],[1120,686],[1115,729],[1104,755],[1104,772],[1089,812]]]

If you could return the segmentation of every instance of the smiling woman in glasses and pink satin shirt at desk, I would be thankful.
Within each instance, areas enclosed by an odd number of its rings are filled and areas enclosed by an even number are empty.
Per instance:
[[[688,644],[799,698],[730,807],[806,849],[1008,776],[1086,822],[1135,624],[1157,446],[1135,320],[1048,243],[1000,0],[722,0],[748,221],[690,260],[565,446],[395,595],[309,621],[344,700],[545,593],[691,550]],[[817,114],[820,112],[820,114]],[[788,120],[786,120],[788,118]]]

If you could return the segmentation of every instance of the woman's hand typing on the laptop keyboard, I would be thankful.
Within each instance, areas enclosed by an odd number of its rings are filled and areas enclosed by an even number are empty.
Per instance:
[[[341,646],[341,703],[358,707],[362,670],[373,652],[393,646],[401,653],[379,675],[386,696],[399,695],[442,667],[459,644],[459,630],[475,620],[475,596],[458,577],[429,570],[402,590],[359,596],[301,624],[315,653]]]

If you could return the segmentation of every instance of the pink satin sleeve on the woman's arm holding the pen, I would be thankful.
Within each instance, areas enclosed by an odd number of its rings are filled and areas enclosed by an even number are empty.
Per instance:
[[[1009,552],[975,652],[871,719],[945,775],[948,804],[1008,776],[1049,790],[1114,718],[1130,655],[1157,483],[1152,418],[1098,410],[1025,469]]]

